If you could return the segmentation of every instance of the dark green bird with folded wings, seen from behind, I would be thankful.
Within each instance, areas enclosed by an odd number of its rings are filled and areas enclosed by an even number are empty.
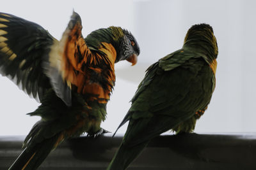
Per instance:
[[[211,101],[218,46],[212,27],[193,25],[184,45],[147,69],[118,129],[127,131],[108,170],[126,169],[150,139],[170,129],[191,132]],[[117,130],[116,130],[117,131]],[[115,134],[114,134],[115,135]]]

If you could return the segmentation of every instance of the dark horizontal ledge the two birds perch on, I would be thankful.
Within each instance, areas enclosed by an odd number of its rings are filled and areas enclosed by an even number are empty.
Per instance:
[[[0,169],[21,152],[24,136],[0,137]],[[39,169],[106,169],[122,136],[74,138]],[[129,169],[256,169],[256,134],[184,134],[153,139]]]

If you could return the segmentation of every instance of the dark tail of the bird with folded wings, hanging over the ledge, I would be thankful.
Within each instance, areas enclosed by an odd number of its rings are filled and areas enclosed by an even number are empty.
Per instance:
[[[110,162],[107,170],[124,170],[127,169],[129,164],[140,155],[143,148],[148,145],[148,141],[140,143],[136,146],[125,146],[121,144],[118,151],[115,153],[112,161]]]

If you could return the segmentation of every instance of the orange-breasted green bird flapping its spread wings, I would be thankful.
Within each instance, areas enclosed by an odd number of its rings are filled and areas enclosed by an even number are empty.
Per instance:
[[[61,141],[104,132],[100,123],[115,85],[114,65],[136,64],[140,48],[120,27],[98,29],[85,39],[81,29],[74,12],[58,41],[38,24],[0,13],[0,73],[42,103],[29,113],[42,119],[10,169],[36,169]]]

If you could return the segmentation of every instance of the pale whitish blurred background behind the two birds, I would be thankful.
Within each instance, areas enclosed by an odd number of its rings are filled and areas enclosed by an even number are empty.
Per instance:
[[[74,9],[81,15],[84,37],[95,29],[118,25],[134,34],[141,48],[138,64],[116,64],[116,86],[108,103],[104,129],[114,132],[129,110],[145,69],[178,50],[189,27],[212,25],[219,55],[216,90],[195,132],[256,131],[256,1],[4,1],[0,11],[36,22],[61,38]],[[39,117],[39,104],[0,75],[0,136],[24,135]],[[126,125],[118,133],[125,132]]]

